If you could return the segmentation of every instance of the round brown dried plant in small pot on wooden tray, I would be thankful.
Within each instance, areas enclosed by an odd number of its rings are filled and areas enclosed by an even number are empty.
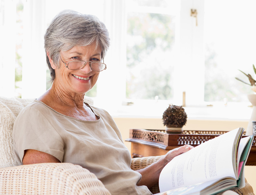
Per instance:
[[[187,114],[182,106],[169,105],[163,112],[163,125],[169,134],[182,134],[183,126],[187,122]]]

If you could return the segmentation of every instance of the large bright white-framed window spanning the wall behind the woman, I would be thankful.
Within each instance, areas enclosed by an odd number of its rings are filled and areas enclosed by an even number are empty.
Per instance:
[[[74,9],[98,16],[109,29],[107,70],[86,94],[96,106],[111,112],[131,103],[141,110],[144,103],[181,105],[183,92],[190,106],[248,102],[250,86],[235,77],[247,81],[238,69],[254,74],[253,0],[244,6],[232,0],[0,2],[2,96],[34,98],[50,87],[44,33],[58,12]]]

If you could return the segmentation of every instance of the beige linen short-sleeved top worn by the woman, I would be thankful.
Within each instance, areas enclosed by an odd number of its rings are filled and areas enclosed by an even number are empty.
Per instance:
[[[141,175],[130,168],[129,150],[112,117],[102,109],[89,107],[98,120],[65,116],[37,100],[25,107],[13,126],[13,149],[19,165],[25,150],[39,150],[60,162],[87,168],[112,195],[151,194],[146,186],[136,185]]]

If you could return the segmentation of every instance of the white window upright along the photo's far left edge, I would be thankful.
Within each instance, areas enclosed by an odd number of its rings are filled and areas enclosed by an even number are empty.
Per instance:
[[[13,97],[15,89],[16,1],[5,0],[0,30],[0,95]]]

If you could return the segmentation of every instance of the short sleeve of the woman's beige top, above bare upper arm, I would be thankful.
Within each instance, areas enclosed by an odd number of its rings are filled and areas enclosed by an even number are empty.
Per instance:
[[[49,122],[50,113],[32,103],[25,107],[17,116],[13,125],[13,150],[19,165],[22,164],[24,151],[34,149],[48,153],[63,160],[64,143],[55,129],[55,124]]]

